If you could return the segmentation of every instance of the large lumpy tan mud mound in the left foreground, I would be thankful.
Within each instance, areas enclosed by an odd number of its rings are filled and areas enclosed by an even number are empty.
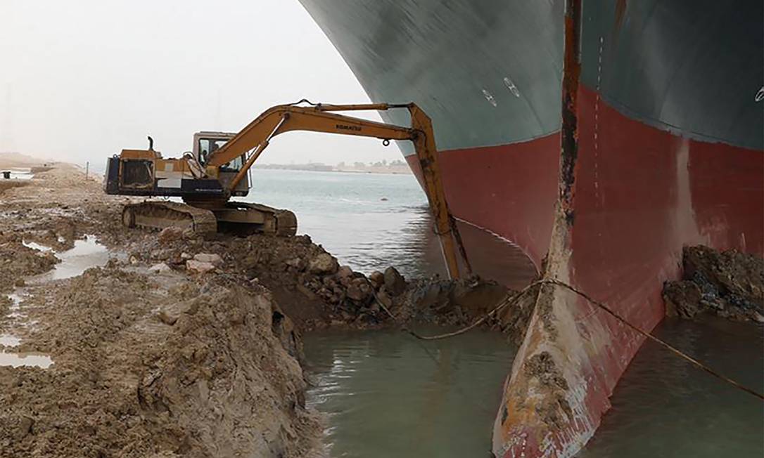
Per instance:
[[[273,321],[265,289],[112,266],[38,291],[28,311],[40,327],[21,350],[54,366],[0,367],[2,456],[304,456],[315,445],[302,371],[280,340],[297,338]]]

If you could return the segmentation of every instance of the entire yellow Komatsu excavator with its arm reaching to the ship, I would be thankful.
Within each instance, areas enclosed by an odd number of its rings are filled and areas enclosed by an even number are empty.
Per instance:
[[[226,139],[222,147],[209,153],[208,156],[186,156],[183,159],[161,160],[160,155],[155,153],[153,149],[149,151],[123,150],[121,155],[123,164],[119,168],[120,172],[110,174],[109,167],[107,167],[107,192],[110,189],[108,176],[112,175],[119,179],[118,183],[112,183],[112,192],[110,192],[112,194],[181,195],[184,201],[193,208],[206,208],[212,211],[219,222],[251,223],[252,225],[257,225],[261,231],[293,234],[296,230],[296,220],[293,218],[293,214],[289,217],[284,213],[285,211],[277,211],[276,209],[264,206],[255,208],[256,205],[240,202],[228,202],[231,195],[242,195],[241,186],[244,178],[248,175],[251,166],[253,166],[257,158],[261,156],[265,148],[270,144],[270,140],[273,137],[289,131],[313,131],[327,134],[353,135],[356,137],[374,137],[383,140],[384,144],[389,144],[390,140],[410,140],[419,159],[419,179],[426,191],[430,208],[435,217],[435,227],[440,237],[449,276],[452,278],[459,277],[457,250],[460,251],[465,267],[469,272],[469,262],[464,247],[461,244],[455,220],[448,209],[448,203],[445,198],[438,164],[437,148],[435,147],[435,136],[432,133],[432,121],[430,121],[425,112],[413,103],[406,105],[309,104],[305,106],[301,105],[303,102],[306,101],[292,105],[277,105],[264,111],[263,114],[233,135],[233,137]],[[338,113],[338,111],[386,111],[393,108],[408,109],[411,115],[411,127],[369,121]],[[136,168],[135,163],[125,163],[126,160],[142,161],[142,163]],[[237,161],[239,161],[240,165],[231,166],[231,164],[235,164]],[[132,166],[132,169],[137,169],[138,172],[146,175],[146,179],[144,179],[146,185],[144,188],[140,188],[140,186],[137,188],[134,185],[122,186],[121,179],[123,174],[121,171],[125,165]],[[188,171],[192,176],[187,180],[188,183],[180,180],[177,194],[173,194],[171,190],[170,192],[163,191],[160,193],[157,192],[157,185],[154,184],[153,176],[151,176],[152,170],[157,170],[157,165],[162,168],[161,170],[165,174],[167,174],[167,170],[179,169],[182,173]],[[196,176],[200,172],[203,176]],[[152,184],[154,184],[154,188],[151,187]],[[154,194],[151,194],[151,192],[154,192]],[[143,205],[144,207],[142,208],[145,211],[145,208],[148,207],[146,207],[146,204]],[[171,210],[174,213],[172,214],[179,214],[178,212],[183,210],[178,205],[180,204],[173,206]],[[260,214],[258,214],[258,211]],[[264,214],[262,214],[263,212]],[[167,205],[164,205],[161,207],[160,213],[170,214],[171,212],[168,210]],[[199,213],[199,211],[191,211],[189,209],[187,213],[195,214]],[[291,212],[288,213],[291,214]],[[128,225],[131,222],[135,224],[136,218],[138,218],[137,215],[128,214],[128,216],[123,218],[123,221]],[[144,220],[154,221],[157,219],[151,218],[144,218]],[[164,218],[164,225],[172,224],[171,218]],[[178,216],[177,218],[183,217]],[[200,216],[195,214],[195,218],[200,218]],[[283,221],[286,221],[288,227],[285,226]],[[209,223],[207,223],[206,227],[209,227]]]

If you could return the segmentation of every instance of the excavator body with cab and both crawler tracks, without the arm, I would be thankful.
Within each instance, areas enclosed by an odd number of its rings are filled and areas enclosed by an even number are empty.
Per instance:
[[[122,223],[150,229],[184,227],[197,233],[295,234],[297,219],[291,211],[231,200],[249,193],[248,169],[232,185],[244,168],[246,152],[218,166],[211,166],[209,160],[235,136],[229,132],[197,132],[193,136],[193,150],[173,159],[165,159],[155,151],[150,137],[147,150],[122,150],[108,158],[106,194],[180,197],[188,204],[172,201],[128,204],[122,211]]]

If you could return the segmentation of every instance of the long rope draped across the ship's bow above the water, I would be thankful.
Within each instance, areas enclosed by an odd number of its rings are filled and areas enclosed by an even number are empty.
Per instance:
[[[530,283],[525,288],[521,289],[519,292],[516,292],[513,295],[507,295],[504,298],[502,298],[497,305],[492,308],[487,313],[483,314],[481,318],[478,318],[478,320],[474,321],[472,324],[469,324],[468,326],[462,327],[461,329],[458,329],[457,331],[453,332],[447,332],[445,334],[437,334],[434,336],[424,336],[422,334],[417,333],[416,331],[411,330],[409,327],[406,327],[406,324],[400,324],[401,331],[404,331],[408,334],[410,334],[412,337],[415,337],[419,340],[441,340],[441,339],[447,339],[449,337],[455,337],[460,334],[465,334],[465,332],[471,331],[475,327],[480,326],[483,324],[488,318],[494,316],[494,314],[497,314],[499,311],[501,311],[503,308],[513,305],[516,302],[518,302],[523,296],[525,296],[530,290],[532,290],[534,287],[539,285],[554,285],[558,286],[563,289],[568,289],[568,291],[575,293],[576,295],[581,296],[589,302],[592,305],[596,305],[601,310],[605,311],[607,314],[610,314],[613,318],[617,319],[621,323],[625,324],[626,327],[629,327],[632,331],[635,331],[637,334],[641,334],[644,337],[648,338],[649,340],[652,340],[656,344],[659,344],[660,346],[664,347],[665,349],[671,351],[676,356],[680,357],[681,359],[687,361],[688,363],[691,363],[693,366],[697,367],[698,369],[703,370],[706,373],[711,374],[711,376],[716,377],[717,379],[720,379],[723,382],[726,382],[736,389],[740,389],[743,392],[748,393],[749,395],[756,396],[756,398],[759,398],[760,401],[764,402],[764,395],[762,393],[756,392],[753,389],[748,388],[746,385],[743,385],[740,382],[737,382],[736,380],[730,379],[730,377],[725,376],[722,373],[717,372],[714,369],[711,369],[711,367],[707,366],[706,364],[702,363],[701,361],[695,359],[692,356],[689,356],[687,353],[684,353],[683,351],[679,350],[678,348],[674,347],[672,344],[669,344],[665,340],[662,340],[659,337],[656,337],[649,332],[643,330],[641,327],[636,326],[636,324],[632,324],[629,321],[626,321],[626,318],[621,317],[619,314],[617,314],[613,309],[608,307],[602,302],[597,301],[596,299],[592,298],[590,295],[588,295],[585,292],[582,292],[581,290],[575,288],[575,286],[568,285],[568,283],[561,282],[557,279],[540,279],[536,280],[535,282]],[[374,292],[374,288],[371,289],[372,292]],[[377,297],[377,293],[374,292],[374,299],[377,301],[377,304],[380,305],[380,308],[382,308],[385,313],[390,315],[390,318],[393,321],[398,322],[397,317],[395,314],[393,314],[392,311],[390,311],[389,308],[387,308],[386,305],[382,301],[380,301],[380,298]]]

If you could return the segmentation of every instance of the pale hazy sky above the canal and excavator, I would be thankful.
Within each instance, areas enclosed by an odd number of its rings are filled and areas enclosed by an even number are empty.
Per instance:
[[[271,105],[368,102],[297,0],[0,0],[0,151],[166,157]],[[372,118],[379,119],[376,114]],[[295,132],[264,163],[394,160],[377,140]]]

